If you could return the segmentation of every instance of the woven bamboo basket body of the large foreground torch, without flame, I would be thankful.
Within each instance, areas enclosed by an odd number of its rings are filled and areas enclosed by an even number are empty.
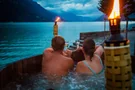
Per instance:
[[[129,40],[112,40],[112,37],[104,44],[106,89],[132,90]],[[118,34],[118,37],[122,36]]]

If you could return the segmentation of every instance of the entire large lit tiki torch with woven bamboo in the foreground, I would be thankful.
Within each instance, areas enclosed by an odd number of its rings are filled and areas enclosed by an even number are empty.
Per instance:
[[[120,2],[109,16],[111,36],[105,40],[105,77],[107,90],[131,90],[132,71],[129,40],[120,34]],[[122,0],[121,0],[122,1]]]

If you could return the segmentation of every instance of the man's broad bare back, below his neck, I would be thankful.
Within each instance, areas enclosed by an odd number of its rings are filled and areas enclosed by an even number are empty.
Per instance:
[[[48,54],[45,54],[42,63],[42,72],[47,76],[51,76],[51,78],[52,76],[65,76],[73,68],[73,60],[71,58],[65,57],[57,52],[52,52],[50,57],[46,55]]]

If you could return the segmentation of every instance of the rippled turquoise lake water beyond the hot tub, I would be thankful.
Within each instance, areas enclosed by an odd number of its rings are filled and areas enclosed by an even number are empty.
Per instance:
[[[125,29],[125,22],[121,29]],[[0,68],[3,65],[42,54],[50,47],[54,22],[0,23]],[[58,22],[59,35],[72,44],[80,32],[104,31],[104,22]],[[108,22],[106,30],[109,30]],[[129,29],[135,22],[129,22]]]

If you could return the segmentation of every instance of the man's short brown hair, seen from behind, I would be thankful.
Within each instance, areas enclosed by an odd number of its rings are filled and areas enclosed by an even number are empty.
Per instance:
[[[61,36],[55,36],[52,39],[52,48],[54,51],[63,50],[65,46],[65,40]]]

